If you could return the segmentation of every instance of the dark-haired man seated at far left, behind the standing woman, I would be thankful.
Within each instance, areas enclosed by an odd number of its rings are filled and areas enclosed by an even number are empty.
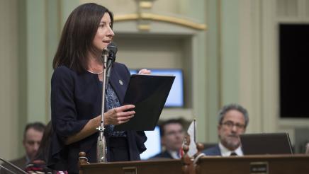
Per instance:
[[[35,158],[36,153],[38,152],[38,148],[40,146],[40,141],[43,137],[43,132],[45,129],[45,125],[40,122],[34,122],[26,125],[25,131],[23,132],[23,147],[26,150],[26,156],[15,159],[13,161],[9,161],[13,163],[15,166],[18,166],[21,169],[25,169],[26,165]],[[16,172],[13,168],[8,166],[7,164],[1,164],[5,168],[9,168]],[[1,174],[9,173],[4,168],[1,168]]]

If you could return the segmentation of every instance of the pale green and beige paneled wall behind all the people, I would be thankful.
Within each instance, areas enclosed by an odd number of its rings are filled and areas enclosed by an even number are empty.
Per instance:
[[[84,2],[0,2],[2,158],[23,153],[26,122],[50,120],[52,57],[67,16]],[[96,2],[115,16],[137,13],[135,0]],[[184,69],[186,108],[165,109],[162,119],[196,117],[198,141],[217,141],[217,112],[227,103],[240,103],[249,110],[247,132],[288,131],[293,141],[294,129],[308,127],[309,121],[279,118],[276,24],[308,23],[304,8],[308,4],[306,0],[156,0],[150,13],[206,24],[208,29],[150,21],[150,31],[140,31],[137,21],[116,22],[121,46],[117,61],[132,68]]]

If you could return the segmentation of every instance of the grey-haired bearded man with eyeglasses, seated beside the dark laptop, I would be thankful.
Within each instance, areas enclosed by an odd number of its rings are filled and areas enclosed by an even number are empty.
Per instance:
[[[240,134],[244,134],[249,115],[241,105],[225,105],[219,112],[218,137],[220,142],[203,151],[206,156],[243,156]]]

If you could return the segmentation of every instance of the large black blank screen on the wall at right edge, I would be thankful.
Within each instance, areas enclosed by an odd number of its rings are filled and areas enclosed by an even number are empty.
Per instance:
[[[280,117],[309,119],[309,24],[279,25]]]

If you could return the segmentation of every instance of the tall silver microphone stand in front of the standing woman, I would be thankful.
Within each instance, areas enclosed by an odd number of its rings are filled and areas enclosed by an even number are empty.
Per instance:
[[[99,137],[96,144],[96,157],[98,163],[106,163],[106,139],[104,136],[104,108],[105,108],[105,86],[106,86],[106,64],[108,59],[108,50],[103,50],[103,86],[102,86],[102,108],[101,108],[101,125],[96,129],[99,130]]]

